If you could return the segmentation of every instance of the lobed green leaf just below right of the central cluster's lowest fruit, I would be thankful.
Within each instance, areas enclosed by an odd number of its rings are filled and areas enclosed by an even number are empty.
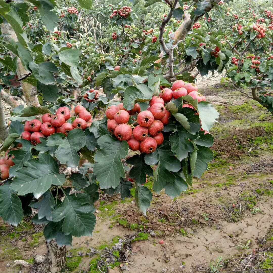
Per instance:
[[[155,152],[145,155],[146,164],[155,165],[157,162],[160,162],[162,167],[169,171],[177,172],[181,169],[180,161],[174,156],[168,145],[157,148]]]

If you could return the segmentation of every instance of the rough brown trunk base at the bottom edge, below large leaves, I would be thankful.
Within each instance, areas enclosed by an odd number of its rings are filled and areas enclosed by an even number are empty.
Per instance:
[[[34,266],[33,273],[59,273],[65,268],[66,247],[59,247],[54,239],[47,242],[48,252],[43,261]]]

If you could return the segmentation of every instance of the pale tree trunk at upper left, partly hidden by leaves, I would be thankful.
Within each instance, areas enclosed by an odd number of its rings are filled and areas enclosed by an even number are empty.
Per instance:
[[[14,30],[12,29],[12,27],[9,24],[2,23],[1,24],[1,31],[3,34],[9,34],[4,37],[6,40],[9,40],[11,38],[16,42],[18,41]],[[12,52],[10,52],[10,55],[12,58],[15,57],[14,53],[12,53]],[[17,73],[19,79],[23,78],[24,76],[28,75],[28,73],[29,73],[25,69],[25,67],[23,66],[20,58],[17,59],[16,73]],[[38,101],[36,87],[34,87],[33,85],[31,85],[27,82],[21,81],[20,83],[21,83],[21,88],[22,88],[25,100],[26,100],[26,104],[39,107],[40,103]]]

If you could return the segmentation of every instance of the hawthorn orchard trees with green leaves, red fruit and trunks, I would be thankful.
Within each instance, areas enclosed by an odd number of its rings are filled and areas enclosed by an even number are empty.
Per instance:
[[[0,216],[18,225],[38,210],[48,253],[36,272],[59,272],[72,236],[92,234],[100,192],[135,186],[145,215],[147,175],[171,198],[201,177],[218,113],[192,85],[199,73],[225,70],[272,111],[270,8],[244,4],[0,0]]]

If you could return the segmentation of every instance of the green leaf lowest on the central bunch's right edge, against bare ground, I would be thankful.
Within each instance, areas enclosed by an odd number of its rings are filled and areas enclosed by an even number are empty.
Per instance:
[[[197,148],[198,151],[193,176],[201,178],[201,175],[207,170],[207,162],[213,159],[213,153],[208,147],[197,145]]]

